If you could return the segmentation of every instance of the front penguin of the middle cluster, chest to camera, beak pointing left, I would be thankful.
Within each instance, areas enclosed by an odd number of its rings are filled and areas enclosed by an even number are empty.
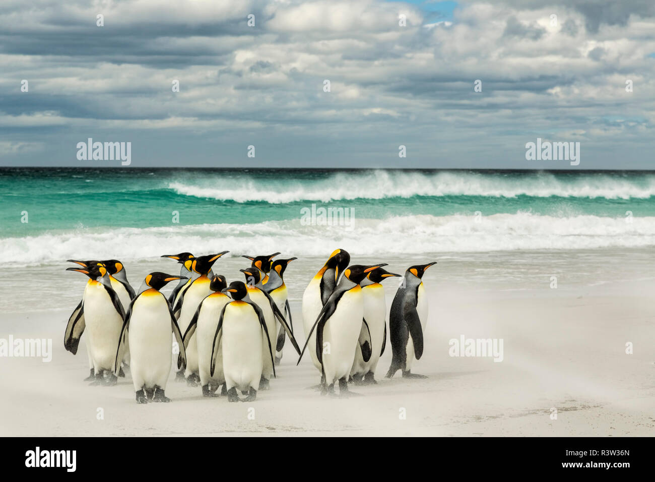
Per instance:
[[[239,401],[236,390],[248,393],[244,401],[257,398],[257,388],[263,368],[263,345],[267,345],[268,356],[273,364],[273,349],[264,315],[257,304],[248,296],[248,289],[241,281],[233,281],[229,288],[233,301],[223,307],[214,334],[212,367],[214,376],[217,365],[218,346],[223,346],[223,374],[227,388],[227,400]]]

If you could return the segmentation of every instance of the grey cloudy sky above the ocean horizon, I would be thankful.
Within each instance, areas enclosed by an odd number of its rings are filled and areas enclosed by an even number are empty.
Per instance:
[[[572,169],[538,137],[655,169],[653,0],[0,3],[0,165]]]

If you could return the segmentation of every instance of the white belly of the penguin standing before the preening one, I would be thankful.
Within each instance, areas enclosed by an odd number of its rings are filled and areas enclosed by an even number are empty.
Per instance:
[[[323,329],[323,368],[326,384],[333,384],[339,378],[350,374],[362,328],[362,317],[362,289],[355,287],[341,296],[337,310],[327,320]]]

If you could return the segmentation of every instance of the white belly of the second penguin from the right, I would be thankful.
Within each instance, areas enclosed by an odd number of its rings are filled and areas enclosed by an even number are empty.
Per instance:
[[[381,284],[362,288],[364,297],[364,319],[368,323],[371,332],[371,359],[364,361],[362,349],[359,343],[355,350],[355,361],[352,365],[351,374],[364,375],[367,372],[375,373],[377,362],[380,359],[382,342],[384,338],[384,324],[386,323],[386,302],[384,300],[384,288]]]

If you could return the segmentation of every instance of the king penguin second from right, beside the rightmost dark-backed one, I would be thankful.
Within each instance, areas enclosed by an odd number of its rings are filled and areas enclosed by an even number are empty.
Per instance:
[[[400,275],[389,273],[384,268],[369,271],[362,281],[362,296],[364,297],[364,321],[360,331],[360,340],[355,350],[355,361],[352,364],[350,376],[354,382],[376,384],[375,369],[377,362],[384,353],[386,346],[386,302],[384,288],[381,283],[384,279]],[[370,338],[371,344],[367,340]],[[365,361],[366,360],[366,361]]]

